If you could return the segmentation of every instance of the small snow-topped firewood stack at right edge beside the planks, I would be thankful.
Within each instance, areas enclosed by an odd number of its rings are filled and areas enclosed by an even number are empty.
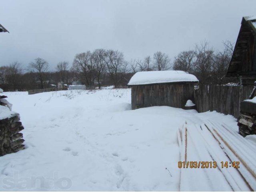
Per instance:
[[[239,133],[244,137],[256,134],[256,114],[241,111],[238,126]]]

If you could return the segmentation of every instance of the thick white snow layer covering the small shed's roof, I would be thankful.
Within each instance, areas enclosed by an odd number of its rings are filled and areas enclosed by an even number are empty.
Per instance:
[[[171,82],[198,82],[196,76],[184,71],[143,71],[132,76],[128,85],[145,85]]]

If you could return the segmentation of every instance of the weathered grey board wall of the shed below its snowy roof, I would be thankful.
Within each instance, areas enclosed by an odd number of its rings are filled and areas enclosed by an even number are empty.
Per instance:
[[[194,83],[132,86],[132,109],[149,106],[184,108],[188,99],[194,101]]]

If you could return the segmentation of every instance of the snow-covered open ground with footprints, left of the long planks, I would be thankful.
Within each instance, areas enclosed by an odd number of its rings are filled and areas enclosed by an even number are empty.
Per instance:
[[[177,191],[178,128],[213,120],[238,130],[217,112],[131,110],[130,89],[4,94],[20,113],[26,149],[0,157],[0,190]]]

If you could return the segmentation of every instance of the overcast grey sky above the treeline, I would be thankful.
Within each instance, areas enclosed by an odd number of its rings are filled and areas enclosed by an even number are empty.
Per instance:
[[[208,40],[236,42],[242,16],[255,0],[0,0],[0,66],[34,58],[52,69],[96,48],[122,51],[126,60],[162,51],[174,56]]]

